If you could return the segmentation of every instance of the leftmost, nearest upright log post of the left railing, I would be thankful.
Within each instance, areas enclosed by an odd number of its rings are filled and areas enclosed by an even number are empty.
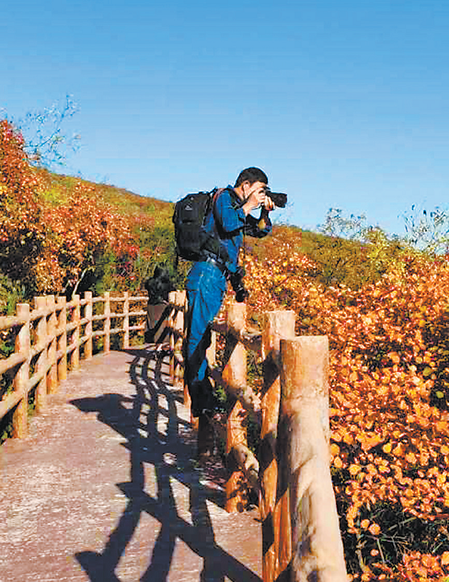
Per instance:
[[[19,365],[14,379],[14,391],[22,393],[22,399],[12,415],[12,436],[25,438],[28,435],[28,380],[30,379],[30,306],[28,303],[18,303],[17,315],[23,317],[23,322],[16,337],[15,352],[25,358]]]

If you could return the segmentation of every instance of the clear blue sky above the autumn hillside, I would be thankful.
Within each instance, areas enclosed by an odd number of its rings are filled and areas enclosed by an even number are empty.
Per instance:
[[[3,0],[0,109],[79,106],[61,173],[177,200],[264,169],[316,229],[446,207],[448,0]]]

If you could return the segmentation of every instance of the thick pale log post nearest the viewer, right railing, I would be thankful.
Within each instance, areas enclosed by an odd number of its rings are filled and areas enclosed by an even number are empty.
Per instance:
[[[289,489],[295,582],[347,581],[326,437],[328,345],[326,336],[280,342],[279,487]]]

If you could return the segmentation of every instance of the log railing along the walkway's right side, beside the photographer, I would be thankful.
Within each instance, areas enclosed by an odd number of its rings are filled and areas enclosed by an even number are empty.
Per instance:
[[[171,374],[182,382],[185,293],[170,299],[178,309]],[[214,368],[217,333],[225,335],[221,371]],[[247,384],[247,350],[261,353],[260,395]],[[207,357],[211,377],[235,400],[227,420],[226,508],[244,510],[248,489],[258,491],[263,582],[347,581],[329,468],[327,337],[295,337],[295,313],[285,310],[266,312],[262,329],[249,329],[245,304],[232,303],[226,320],[213,324]],[[185,387],[184,395],[189,404]],[[260,424],[258,458],[248,448],[248,415]]]

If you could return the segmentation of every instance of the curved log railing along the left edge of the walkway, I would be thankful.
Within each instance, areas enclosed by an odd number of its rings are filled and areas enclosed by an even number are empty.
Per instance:
[[[68,369],[79,368],[80,357],[90,359],[93,341],[102,338],[102,350],[111,350],[111,336],[122,334],[122,347],[129,347],[130,332],[144,330],[145,323],[130,325],[130,318],[144,319],[146,310],[131,311],[131,303],[146,303],[148,297],[93,297],[86,292],[84,299],[75,295],[71,301],[50,295],[35,297],[33,308],[19,303],[15,316],[0,317],[0,332],[15,332],[15,352],[0,359],[0,377],[9,371],[12,389],[0,400],[0,419],[12,412],[12,435],[17,438],[28,434],[28,397],[35,389],[36,412],[46,407],[47,395],[57,392],[59,382],[66,379]],[[119,312],[111,312],[111,305],[123,303]],[[94,306],[103,304],[103,309]],[[122,321],[111,328],[111,321]]]

